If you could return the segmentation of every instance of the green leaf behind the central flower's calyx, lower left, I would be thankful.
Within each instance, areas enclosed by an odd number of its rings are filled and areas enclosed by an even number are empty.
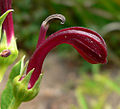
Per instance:
[[[21,69],[23,69],[23,62],[24,57],[17,64],[14,65],[10,73],[6,88],[4,89],[1,96],[1,109],[8,109],[9,105],[14,99],[12,82],[13,79],[20,74]]]

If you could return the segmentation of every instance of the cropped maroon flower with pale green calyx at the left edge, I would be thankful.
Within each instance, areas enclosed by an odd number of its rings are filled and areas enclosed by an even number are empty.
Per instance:
[[[18,55],[12,19],[12,0],[0,0],[0,81]]]

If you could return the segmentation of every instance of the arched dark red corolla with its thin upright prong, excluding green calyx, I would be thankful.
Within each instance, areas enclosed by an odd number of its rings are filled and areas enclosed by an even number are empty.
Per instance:
[[[62,15],[60,17],[62,17]],[[28,88],[32,88],[35,82],[38,80],[46,55],[54,47],[63,43],[72,45],[86,61],[92,64],[104,64],[107,62],[107,49],[103,38],[98,33],[90,29],[83,27],[66,28],[53,33],[45,40],[45,35],[49,26],[49,18],[51,18],[51,16],[49,16],[47,20],[43,22],[45,25],[42,24],[41,28],[44,28],[44,31],[42,31],[43,29],[40,31],[37,48],[27,67],[27,73],[35,68],[32,73]],[[54,18],[56,17],[52,15],[52,19]],[[57,17],[57,19],[60,18]]]

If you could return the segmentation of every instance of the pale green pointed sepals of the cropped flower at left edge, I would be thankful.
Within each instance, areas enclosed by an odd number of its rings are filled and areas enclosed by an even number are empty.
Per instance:
[[[1,35],[2,35],[2,39],[0,41],[0,53],[3,50],[10,50],[11,51],[11,54],[8,57],[1,57],[0,56],[0,82],[2,81],[4,73],[6,72],[8,66],[11,65],[15,61],[15,59],[17,58],[17,56],[18,56],[18,49],[17,49],[15,37],[14,36],[12,37],[11,43],[8,46],[7,45],[7,37],[6,37],[5,31],[4,31],[3,34],[1,34],[2,23],[5,20],[5,18],[8,15],[8,13],[10,13],[11,11],[13,11],[13,9],[10,9],[10,10],[6,11],[0,17],[0,39],[1,39]]]

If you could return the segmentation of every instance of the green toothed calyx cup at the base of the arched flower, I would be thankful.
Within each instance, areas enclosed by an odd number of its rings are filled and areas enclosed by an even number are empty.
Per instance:
[[[19,81],[21,75],[18,75],[13,81],[13,92],[15,99],[19,100],[20,102],[26,102],[32,100],[34,97],[37,96],[40,89],[40,82],[43,77],[43,74],[40,75],[39,79],[36,81],[35,85],[28,89],[28,84],[30,77],[33,73],[34,69],[32,69],[23,80]]]

